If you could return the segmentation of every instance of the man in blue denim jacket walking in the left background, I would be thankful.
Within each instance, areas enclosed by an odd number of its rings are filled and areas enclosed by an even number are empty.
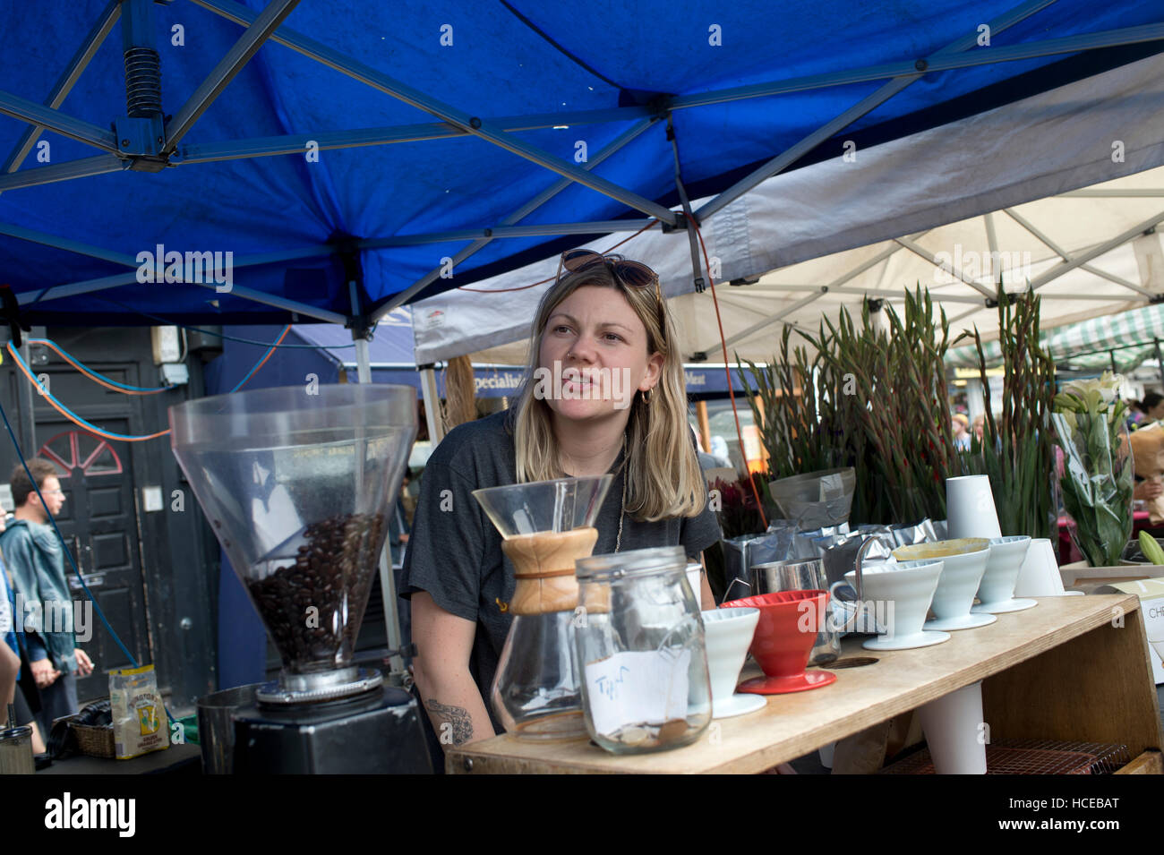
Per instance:
[[[71,617],[73,613],[65,576],[64,546],[56,529],[45,525],[49,514],[56,516],[61,513],[65,494],[56,466],[49,461],[34,457],[28,461],[28,471],[36,479],[35,487],[20,464],[9,479],[16,519],[0,534],[0,549],[16,591],[23,594],[26,601],[41,606],[35,626],[24,621],[24,642],[41,698],[41,728],[48,733],[54,719],[77,712],[77,677],[92,674],[93,662],[77,647],[71,626],[65,632],[48,632],[49,628],[57,628],[44,625],[47,614],[68,611]],[[65,608],[55,606],[57,603],[64,604]]]

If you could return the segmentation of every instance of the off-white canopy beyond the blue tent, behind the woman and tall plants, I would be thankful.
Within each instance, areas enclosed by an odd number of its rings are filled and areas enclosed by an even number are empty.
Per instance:
[[[778,174],[703,223],[729,361],[768,359],[781,323],[815,330],[842,305],[897,304],[918,283],[954,332],[977,325],[994,337],[1000,270],[1008,291],[1029,282],[1044,298],[1044,329],[1164,293],[1159,235],[1143,235],[1164,222],[1164,57],[845,154]],[[722,361],[711,295],[694,293],[687,235],[655,227],[625,237],[588,247],[620,244],[651,264],[684,361]],[[547,285],[523,286],[556,266],[545,259],[414,304],[417,364],[462,354],[520,364]]]

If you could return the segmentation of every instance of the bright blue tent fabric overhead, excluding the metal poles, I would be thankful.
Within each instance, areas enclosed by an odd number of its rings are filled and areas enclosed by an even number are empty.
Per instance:
[[[136,1],[136,0],[135,0]],[[151,3],[162,66],[162,106],[176,114],[242,28],[205,6],[261,10],[248,0]],[[5,93],[41,104],[106,0],[52,3],[3,0],[0,49]],[[886,63],[913,63],[973,35],[1015,8],[1015,0],[881,0],[870,3],[747,0],[656,2],[382,3],[301,0],[279,33],[297,33],[374,72],[390,76],[459,115],[512,126],[511,136],[577,166],[648,116],[644,105],[794,77]],[[1049,38],[1159,23],[1157,0],[1093,5],[1059,0],[1005,31],[989,51]],[[182,43],[175,35],[182,28]],[[300,40],[301,41],[301,40]],[[308,47],[311,47],[308,44]],[[1130,62],[1164,48],[1101,48],[1032,59],[937,71],[885,101],[801,161],[836,157],[844,140],[895,138]],[[883,79],[675,109],[682,176],[693,198],[718,192],[876,91]],[[633,114],[574,122],[567,114]],[[638,108],[636,111],[636,108]],[[98,49],[61,112],[98,128],[126,115],[120,23]],[[523,128],[506,116],[562,114]],[[532,120],[531,120],[532,121]],[[526,122],[528,124],[531,122]],[[676,199],[666,122],[626,144],[592,172],[639,197]],[[126,169],[3,190],[0,177],[0,282],[19,295],[21,315],[45,325],[284,323],[306,320],[239,293],[182,283],[139,283],[140,252],[233,252],[233,285],[343,318],[385,305],[468,245],[441,240],[367,245],[407,235],[481,229],[502,223],[560,176],[469,134],[439,140],[327,149],[308,142],[332,131],[397,126],[439,127],[428,112],[392,98],[300,52],[265,43],[178,143],[170,168]],[[0,116],[0,157],[27,124]],[[419,131],[418,131],[419,133]],[[298,135],[292,154],[194,162],[208,148],[256,137]],[[44,131],[17,174],[59,166],[99,150]],[[129,166],[130,161],[125,161]],[[520,225],[641,218],[623,201],[574,184]],[[20,231],[28,229],[30,234]],[[19,233],[19,234],[17,234]],[[47,237],[45,237],[47,236]],[[577,245],[587,234],[498,237],[435,278],[419,295],[473,283]],[[85,244],[94,257],[62,248]],[[79,247],[74,249],[81,249]],[[260,264],[248,257],[293,254]],[[345,254],[347,258],[345,258]],[[61,299],[57,286],[128,276],[119,287]],[[349,282],[357,285],[353,307]]]

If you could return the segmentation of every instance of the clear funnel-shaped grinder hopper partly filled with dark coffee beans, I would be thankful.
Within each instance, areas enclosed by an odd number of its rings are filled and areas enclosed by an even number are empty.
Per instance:
[[[412,441],[416,391],[264,389],[170,408],[170,443],[283,657],[261,699],[342,697]]]

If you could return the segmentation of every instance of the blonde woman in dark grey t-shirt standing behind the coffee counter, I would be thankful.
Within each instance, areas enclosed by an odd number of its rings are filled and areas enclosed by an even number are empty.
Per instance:
[[[684,389],[654,271],[563,254],[516,405],[449,433],[421,479],[400,591],[412,600],[416,686],[433,732],[448,725],[453,744],[501,732],[488,699],[513,568],[473,490],[611,472],[595,555],[681,544],[700,561],[719,539]],[[700,597],[715,607],[705,577]]]

